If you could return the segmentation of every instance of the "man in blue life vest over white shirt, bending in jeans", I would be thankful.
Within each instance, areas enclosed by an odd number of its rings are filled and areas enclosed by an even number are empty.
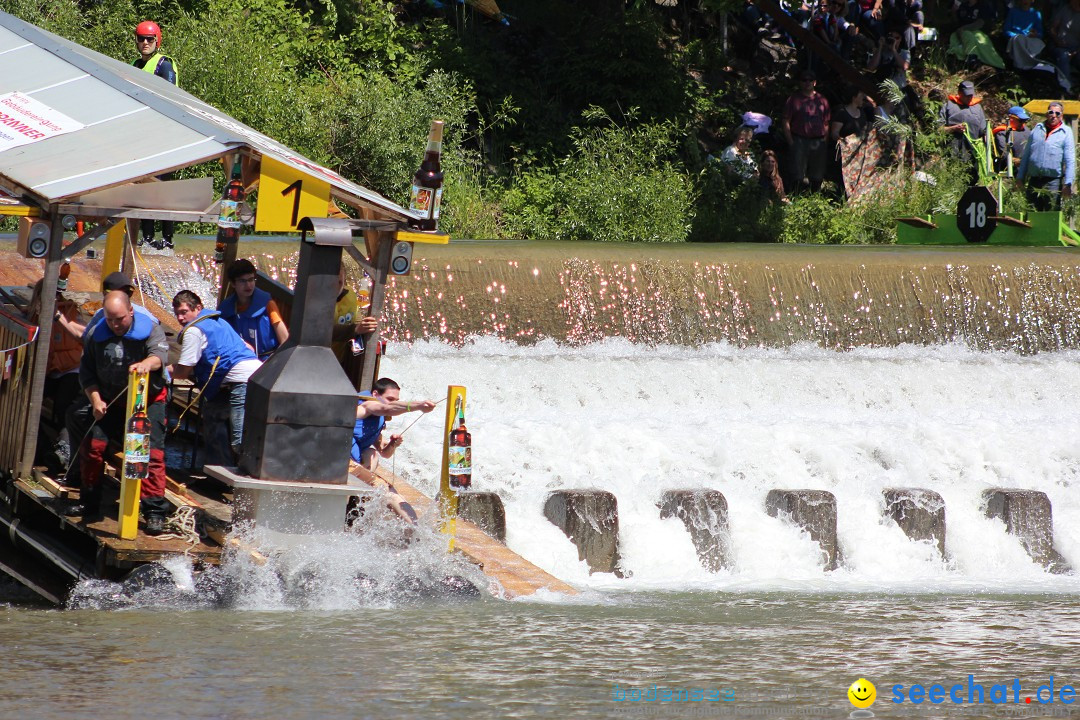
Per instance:
[[[201,393],[203,438],[206,464],[234,465],[244,437],[244,400],[247,379],[261,367],[255,352],[244,344],[220,313],[203,309],[202,300],[191,290],[180,290],[173,298],[173,312],[180,330],[180,357],[170,366],[177,380],[193,378]],[[229,429],[230,450],[222,449],[220,430]]]

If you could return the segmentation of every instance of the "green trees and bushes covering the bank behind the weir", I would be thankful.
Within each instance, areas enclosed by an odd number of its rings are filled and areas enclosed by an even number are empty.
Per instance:
[[[942,58],[913,78],[928,98],[912,132],[929,181],[782,205],[710,160],[743,111],[779,119],[794,89],[794,56],[745,59],[757,40],[725,29],[723,13],[741,3],[500,0],[509,26],[436,4],[0,0],[125,62],[135,25],[158,21],[185,90],[399,203],[430,120],[443,118],[441,227],[455,236],[888,243],[896,217],[951,210],[966,186],[934,128],[936,91],[960,77]],[[982,80],[1005,107],[1025,99],[1008,73]],[[1023,206],[1005,195],[1007,209]]]

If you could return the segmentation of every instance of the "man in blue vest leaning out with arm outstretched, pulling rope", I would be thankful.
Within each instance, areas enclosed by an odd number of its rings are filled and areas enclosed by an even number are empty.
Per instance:
[[[356,404],[356,425],[352,431],[352,451],[350,456],[360,466],[352,466],[356,476],[367,483],[378,487],[387,486],[387,504],[401,517],[416,521],[416,513],[405,499],[397,494],[394,486],[386,483],[375,475],[378,467],[379,457],[390,458],[394,450],[402,444],[401,435],[391,435],[389,438],[382,436],[382,431],[387,426],[387,418],[395,418],[405,412],[419,410],[420,412],[431,412],[435,409],[435,404],[431,400],[403,400],[401,399],[401,385],[390,378],[379,378],[372,385],[369,395],[359,395]],[[359,499],[350,498],[349,511],[353,511],[359,503]]]

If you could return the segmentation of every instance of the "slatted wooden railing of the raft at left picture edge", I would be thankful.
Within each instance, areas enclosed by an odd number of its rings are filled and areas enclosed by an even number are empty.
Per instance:
[[[17,475],[26,446],[38,328],[0,307],[0,472]],[[9,369],[10,368],[10,371]]]

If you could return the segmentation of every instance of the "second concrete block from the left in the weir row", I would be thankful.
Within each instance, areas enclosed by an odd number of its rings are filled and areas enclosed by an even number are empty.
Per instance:
[[[619,504],[604,490],[556,490],[548,495],[543,514],[578,547],[578,559],[589,572],[623,576],[619,565]]]

